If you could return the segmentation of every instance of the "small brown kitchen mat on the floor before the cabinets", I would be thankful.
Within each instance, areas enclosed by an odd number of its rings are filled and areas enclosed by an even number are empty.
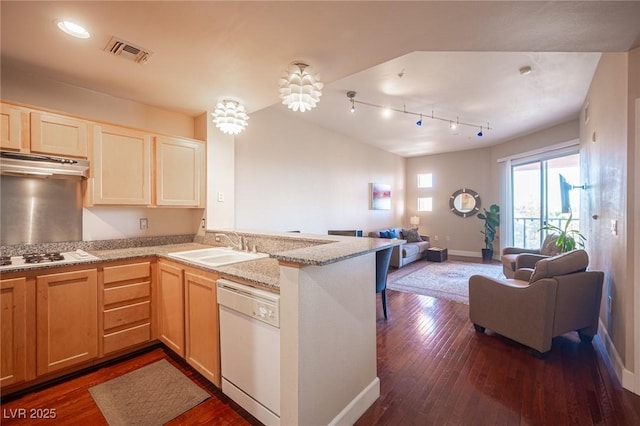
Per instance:
[[[167,360],[89,389],[111,426],[162,425],[209,398]]]

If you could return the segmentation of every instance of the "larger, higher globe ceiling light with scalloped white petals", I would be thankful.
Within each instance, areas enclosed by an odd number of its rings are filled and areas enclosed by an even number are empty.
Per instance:
[[[282,103],[293,111],[308,111],[316,106],[324,86],[307,64],[294,62],[279,81]]]

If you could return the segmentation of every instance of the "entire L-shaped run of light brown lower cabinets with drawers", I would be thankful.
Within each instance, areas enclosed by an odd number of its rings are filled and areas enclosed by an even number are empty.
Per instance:
[[[165,259],[156,268],[154,262],[0,280],[1,392],[156,338],[220,387],[219,276]]]

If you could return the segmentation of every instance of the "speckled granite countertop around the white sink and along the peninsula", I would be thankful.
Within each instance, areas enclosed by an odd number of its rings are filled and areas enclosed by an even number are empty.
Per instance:
[[[266,287],[272,291],[280,289],[280,262],[300,265],[328,265],[351,257],[375,252],[385,247],[393,247],[404,244],[404,240],[387,240],[379,238],[354,238],[342,236],[312,235],[312,234],[270,234],[270,233],[240,233],[245,238],[254,238],[254,241],[263,244],[269,258],[234,263],[218,267],[206,267],[182,259],[168,256],[169,253],[179,251],[198,250],[212,247],[216,244],[208,244],[207,238],[199,242],[174,242],[148,246],[133,246],[108,248],[109,245],[97,247],[82,247],[88,253],[98,257],[96,260],[87,260],[78,264],[97,264],[102,262],[137,259],[142,257],[158,256],[170,259],[174,262],[196,267],[205,271],[212,271],[225,278],[240,278],[259,287]],[[266,242],[264,240],[267,240]],[[107,248],[103,248],[107,247]],[[73,249],[72,247],[68,247]],[[273,250],[268,250],[273,248]],[[282,250],[284,248],[284,250]],[[278,251],[278,249],[280,249]],[[37,268],[24,270],[11,270],[11,272],[24,272],[26,270],[42,270],[63,265],[42,264]],[[70,265],[64,265],[70,266]]]

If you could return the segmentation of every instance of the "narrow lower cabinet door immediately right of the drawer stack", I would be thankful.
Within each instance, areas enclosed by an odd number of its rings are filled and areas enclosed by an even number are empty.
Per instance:
[[[183,274],[182,268],[158,264],[158,338],[184,358]]]

